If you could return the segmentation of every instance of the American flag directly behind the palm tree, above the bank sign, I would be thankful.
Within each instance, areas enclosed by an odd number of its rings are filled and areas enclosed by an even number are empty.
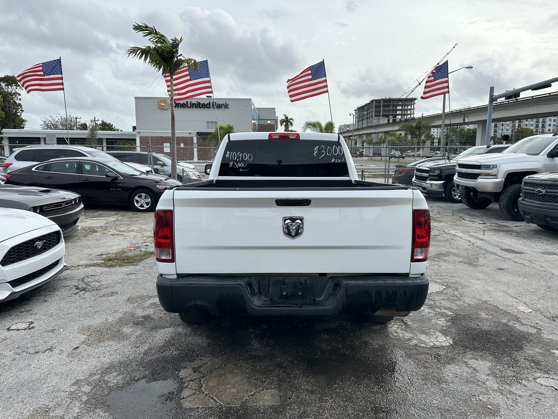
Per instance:
[[[167,92],[171,93],[171,78],[165,74]],[[174,83],[175,101],[184,101],[203,94],[213,94],[211,78],[209,77],[208,60],[198,61],[198,71],[189,70],[185,65],[172,77]]]

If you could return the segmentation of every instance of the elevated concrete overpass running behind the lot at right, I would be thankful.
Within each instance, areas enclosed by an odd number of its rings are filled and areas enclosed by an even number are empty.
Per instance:
[[[483,105],[446,112],[445,126],[477,124],[477,145],[483,145],[487,130],[487,110],[488,105]],[[544,118],[556,115],[558,115],[558,92],[496,102],[493,106],[492,122],[525,120],[537,117]],[[402,122],[415,123],[417,119],[434,120],[432,128],[438,128],[442,125],[442,114],[435,113],[433,115],[421,116],[420,118],[408,118],[397,122],[355,128],[354,136],[362,139],[363,135],[366,138],[372,135],[372,138],[377,140],[380,136],[387,137],[389,132],[400,131],[399,126]],[[353,130],[339,132],[339,134],[345,140],[349,140],[353,136]]]

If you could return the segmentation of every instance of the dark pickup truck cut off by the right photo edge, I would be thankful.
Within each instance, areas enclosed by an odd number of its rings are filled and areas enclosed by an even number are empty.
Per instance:
[[[517,204],[526,222],[543,230],[558,231],[558,172],[523,178]]]

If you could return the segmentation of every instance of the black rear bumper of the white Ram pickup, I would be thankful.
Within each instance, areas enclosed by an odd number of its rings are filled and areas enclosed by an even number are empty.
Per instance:
[[[405,275],[157,278],[157,296],[165,311],[186,313],[200,307],[214,316],[373,315],[381,309],[410,312],[420,310],[428,287],[425,274],[412,278]]]

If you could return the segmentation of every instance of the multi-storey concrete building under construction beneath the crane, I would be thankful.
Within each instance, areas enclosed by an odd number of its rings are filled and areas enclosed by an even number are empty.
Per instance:
[[[380,123],[413,118],[415,117],[416,99],[416,97],[372,99],[355,109],[357,116],[357,126],[355,128],[365,128]]]

